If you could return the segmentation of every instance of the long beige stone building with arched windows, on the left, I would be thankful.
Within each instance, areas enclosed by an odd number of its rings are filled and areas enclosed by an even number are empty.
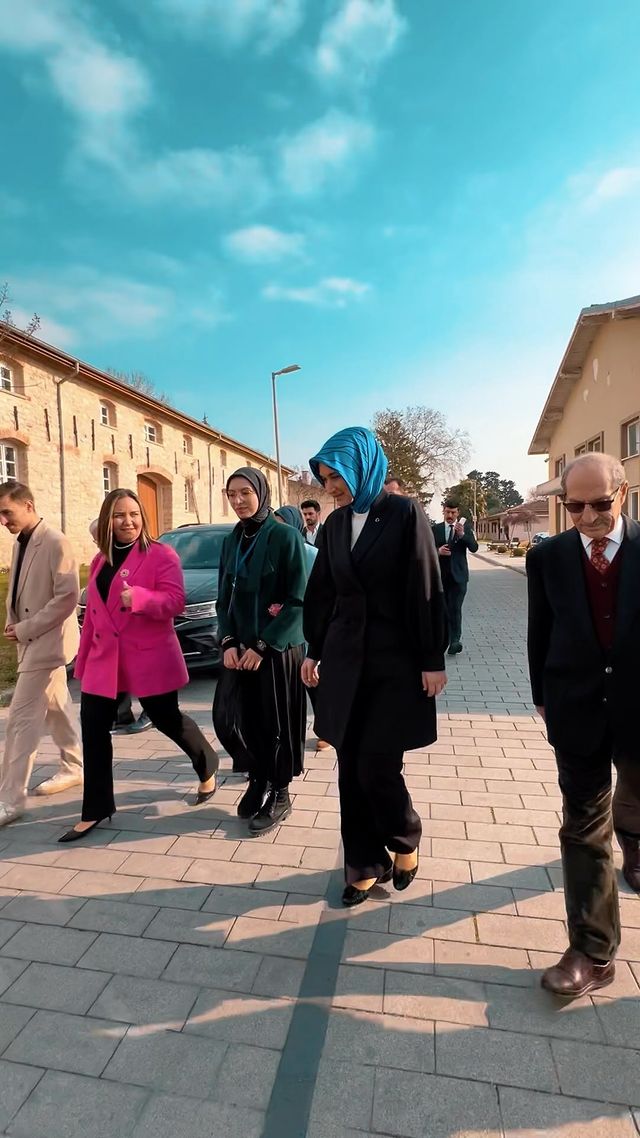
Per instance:
[[[81,561],[96,552],[88,526],[108,490],[137,489],[155,535],[231,521],[224,483],[241,465],[264,471],[276,501],[268,455],[0,323],[0,480],[28,483]],[[290,473],[282,468],[285,481]],[[0,566],[11,545],[0,531]]]

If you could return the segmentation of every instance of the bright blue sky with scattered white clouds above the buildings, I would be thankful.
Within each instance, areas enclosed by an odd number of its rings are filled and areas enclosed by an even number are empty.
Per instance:
[[[0,0],[0,279],[42,337],[307,456],[385,406],[524,492],[579,310],[640,292],[640,5]]]

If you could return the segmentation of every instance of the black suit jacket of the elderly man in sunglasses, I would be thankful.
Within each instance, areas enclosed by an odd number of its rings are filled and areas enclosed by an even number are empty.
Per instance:
[[[625,519],[618,558],[616,625],[610,651],[600,646],[577,529],[527,553],[528,666],[533,702],[544,707],[549,742],[560,751],[592,753],[612,733],[614,744],[638,751],[640,695],[640,525]]]

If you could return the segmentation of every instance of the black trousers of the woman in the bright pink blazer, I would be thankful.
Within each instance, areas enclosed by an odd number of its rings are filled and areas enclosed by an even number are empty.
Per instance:
[[[197,723],[183,715],[178,704],[178,692],[139,696],[154,727],[184,751],[200,782],[206,782],[218,770],[218,754],[203,735]],[[82,693],[80,723],[84,752],[84,793],[82,820],[95,822],[115,813],[112,725],[121,695],[115,700],[104,695]]]

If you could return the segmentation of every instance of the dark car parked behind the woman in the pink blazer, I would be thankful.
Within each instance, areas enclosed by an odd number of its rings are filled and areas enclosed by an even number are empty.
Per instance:
[[[212,668],[220,663],[218,644],[218,569],[222,542],[232,526],[180,526],[158,541],[175,550],[184,574],[187,601],[174,626],[189,668]],[[87,589],[77,607],[80,625],[87,608]]]

